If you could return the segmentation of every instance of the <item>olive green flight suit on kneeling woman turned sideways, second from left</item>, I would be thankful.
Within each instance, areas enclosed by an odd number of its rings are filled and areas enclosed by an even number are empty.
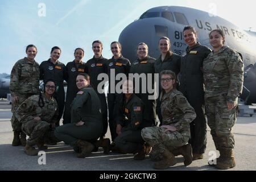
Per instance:
[[[71,146],[77,140],[95,142],[102,133],[101,101],[95,90],[89,85],[77,92],[71,105],[71,123],[56,127],[55,137]],[[76,126],[79,121],[85,122]]]

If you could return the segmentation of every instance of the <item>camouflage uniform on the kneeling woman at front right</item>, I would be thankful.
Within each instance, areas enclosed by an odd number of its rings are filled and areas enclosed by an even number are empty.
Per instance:
[[[160,100],[163,125],[174,126],[177,131],[166,131],[166,128],[157,126],[142,129],[142,138],[152,146],[152,159],[158,158],[158,155],[161,155],[160,151],[172,151],[184,146],[190,137],[189,123],[196,118],[193,107],[176,89],[161,94]]]

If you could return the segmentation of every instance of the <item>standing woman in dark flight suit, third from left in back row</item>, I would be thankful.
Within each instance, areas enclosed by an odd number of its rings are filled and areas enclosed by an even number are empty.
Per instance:
[[[79,92],[79,89],[76,86],[76,77],[79,75],[79,73],[85,73],[85,63],[82,62],[82,57],[84,57],[84,49],[76,48],[74,56],[75,60],[66,65],[68,88],[65,101],[65,110],[63,114],[63,125],[71,122],[70,105],[76,97],[76,93]]]

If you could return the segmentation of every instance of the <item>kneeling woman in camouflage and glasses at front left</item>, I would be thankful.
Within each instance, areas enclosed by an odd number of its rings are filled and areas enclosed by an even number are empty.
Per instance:
[[[55,82],[47,80],[44,83],[44,92],[28,97],[14,113],[22,123],[22,131],[29,136],[24,148],[27,155],[38,155],[33,147],[35,144],[40,150],[47,149],[43,143],[44,137],[58,121],[57,102],[52,97],[55,88]]]

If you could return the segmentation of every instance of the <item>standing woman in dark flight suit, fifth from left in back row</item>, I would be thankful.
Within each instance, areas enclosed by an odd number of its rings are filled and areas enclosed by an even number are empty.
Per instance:
[[[112,142],[117,137],[115,131],[117,127],[118,113],[117,110],[122,107],[123,104],[123,93],[115,92],[115,85],[119,81],[110,80],[110,72],[114,71],[115,75],[118,73],[124,73],[128,76],[130,71],[131,63],[128,59],[122,56],[122,47],[119,42],[112,42],[110,44],[111,51],[113,53],[112,59],[108,61],[108,77],[109,77],[109,92],[108,92],[108,109],[109,109],[109,129],[111,133]],[[114,143],[112,144],[114,146]]]

